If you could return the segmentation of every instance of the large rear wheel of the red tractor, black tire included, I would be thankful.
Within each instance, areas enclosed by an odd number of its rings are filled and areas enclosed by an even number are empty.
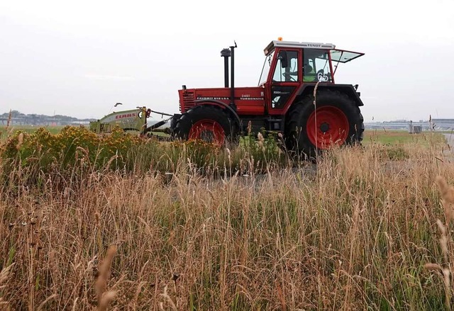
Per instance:
[[[317,114],[321,115],[319,120],[314,117],[314,96],[306,96],[290,108],[284,132],[288,150],[313,158],[317,150],[321,152],[332,145],[353,145],[362,141],[364,119],[355,101],[346,94],[319,91],[316,106]],[[314,140],[314,136],[320,140]],[[328,141],[328,137],[333,136],[337,138],[336,142]]]

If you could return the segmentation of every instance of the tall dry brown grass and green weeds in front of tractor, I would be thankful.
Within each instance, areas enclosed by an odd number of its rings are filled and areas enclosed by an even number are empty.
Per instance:
[[[316,164],[118,132],[18,132],[0,164],[4,310],[450,310],[448,145]]]

